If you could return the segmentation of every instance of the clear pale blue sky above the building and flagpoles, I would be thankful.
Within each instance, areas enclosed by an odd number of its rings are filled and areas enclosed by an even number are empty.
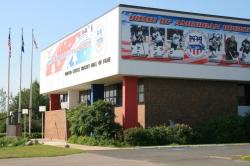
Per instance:
[[[31,29],[38,43],[33,78],[39,80],[40,50],[118,4],[250,18],[249,0],[5,0],[0,5],[0,88],[7,89],[8,30],[12,29],[10,91],[19,89],[21,28],[24,29],[23,88],[30,83]]]

